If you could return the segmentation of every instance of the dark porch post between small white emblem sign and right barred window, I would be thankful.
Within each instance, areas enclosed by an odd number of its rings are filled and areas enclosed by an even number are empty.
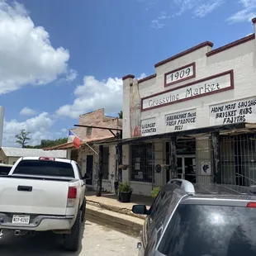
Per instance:
[[[211,133],[212,149],[213,149],[213,173],[214,183],[221,183],[220,173],[220,133],[215,131]]]

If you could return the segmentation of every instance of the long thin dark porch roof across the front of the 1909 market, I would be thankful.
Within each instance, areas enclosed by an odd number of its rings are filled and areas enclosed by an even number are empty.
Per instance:
[[[159,135],[149,135],[149,136],[141,136],[136,138],[127,138],[127,139],[116,139],[111,141],[106,141],[105,143],[96,142],[95,144],[99,145],[110,145],[110,144],[121,144],[126,145],[130,143],[139,143],[141,141],[146,140],[159,140],[159,139],[167,139],[173,136],[178,136],[181,139],[189,139],[189,138],[198,138],[210,135],[211,132],[219,131],[220,135],[239,135],[245,132],[252,132],[256,130],[256,123],[235,123],[221,126],[207,126],[192,130],[180,130],[175,132],[168,132]]]

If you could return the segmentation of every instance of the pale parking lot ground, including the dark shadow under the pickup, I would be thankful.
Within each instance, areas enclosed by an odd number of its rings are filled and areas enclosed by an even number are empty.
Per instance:
[[[34,237],[3,234],[0,236],[0,254],[1,256],[135,256],[138,254],[136,249],[138,241],[138,238],[87,221],[81,248],[77,253],[64,252],[61,235],[45,232]]]

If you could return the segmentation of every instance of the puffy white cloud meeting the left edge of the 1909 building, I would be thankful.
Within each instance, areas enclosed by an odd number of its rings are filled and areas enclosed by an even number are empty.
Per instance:
[[[140,78],[145,78],[145,73]],[[99,81],[93,76],[85,76],[83,85],[78,85],[74,90],[76,99],[73,104],[59,107],[57,116],[78,118],[88,111],[104,107],[109,114],[117,113],[122,108],[123,85],[121,78],[107,78]]]

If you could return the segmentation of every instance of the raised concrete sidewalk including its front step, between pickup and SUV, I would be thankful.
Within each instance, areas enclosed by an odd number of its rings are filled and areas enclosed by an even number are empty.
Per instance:
[[[103,193],[102,197],[96,197],[96,192],[87,191],[87,214],[93,219],[106,221],[108,225],[120,225],[133,230],[142,230],[146,216],[136,215],[131,211],[135,204],[143,204],[149,208],[154,199],[141,195],[131,195],[129,203],[117,201],[116,194]]]

